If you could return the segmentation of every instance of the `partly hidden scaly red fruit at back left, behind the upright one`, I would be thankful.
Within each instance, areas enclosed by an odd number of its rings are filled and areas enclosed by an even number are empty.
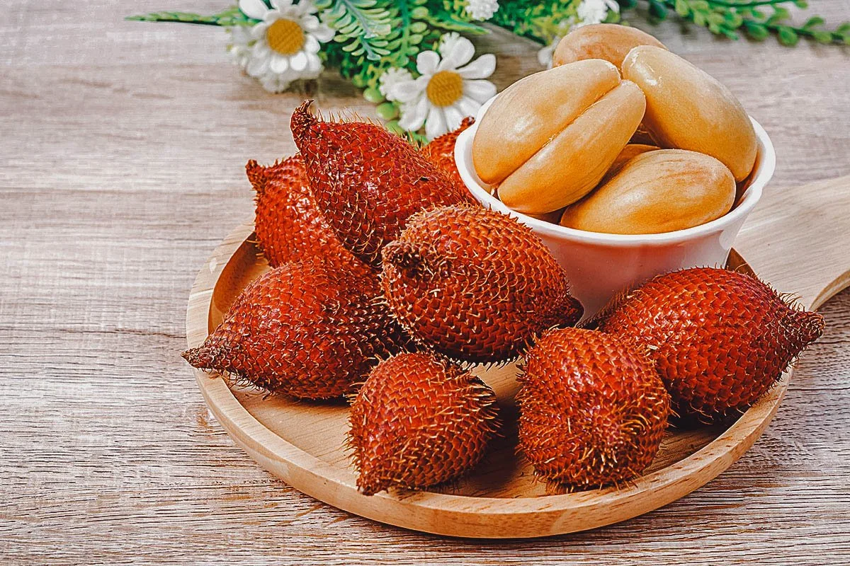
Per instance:
[[[245,171],[257,193],[257,244],[270,266],[308,256],[357,261],[316,208],[300,154],[268,167],[250,160]]]

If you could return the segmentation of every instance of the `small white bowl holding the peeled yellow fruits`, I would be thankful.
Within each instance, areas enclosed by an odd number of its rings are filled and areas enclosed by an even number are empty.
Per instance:
[[[596,314],[623,289],[660,273],[696,266],[723,266],[746,217],[774,175],[774,146],[767,132],[751,118],[758,138],[756,165],[740,203],[725,216],[701,226],[660,234],[606,234],[558,226],[507,208],[490,194],[489,186],[475,173],[473,137],[491,103],[492,100],[484,104],[476,123],[457,137],[457,169],[467,188],[483,205],[516,217],[540,236],[564,266],[572,293],[585,307],[585,317]]]

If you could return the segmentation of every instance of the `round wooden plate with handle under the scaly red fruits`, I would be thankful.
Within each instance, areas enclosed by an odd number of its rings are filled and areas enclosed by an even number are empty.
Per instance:
[[[823,245],[819,250],[826,254],[818,261],[811,261],[809,257],[808,265],[801,265],[800,261],[806,261],[806,249],[812,244],[824,243],[820,242],[820,237],[811,235],[805,241],[796,242],[800,253],[796,261],[791,258],[791,265],[796,265],[798,270],[806,267],[805,277],[782,277],[781,281],[771,277],[776,275],[777,261],[769,261],[771,255],[764,251],[768,244],[759,245],[764,238],[774,245],[794,242],[795,235],[802,233],[798,219],[782,216],[780,210],[784,208],[773,207],[773,217],[762,214],[754,220],[757,224],[760,221],[770,224],[762,226],[762,232],[750,237],[742,234],[741,243],[747,256],[752,253],[760,261],[764,260],[756,265],[760,275],[781,290],[802,292],[805,305],[816,306],[847,285],[845,268],[850,266],[850,257],[848,246],[841,242],[850,233],[847,187],[850,182],[845,179],[841,185],[845,198],[835,203],[843,210],[830,212],[836,216],[833,219],[836,224],[825,230],[825,236],[831,235],[833,239],[830,245]],[[802,192],[802,189],[797,191]],[[835,200],[836,197],[834,187],[822,191],[808,189],[806,194],[807,199],[813,199],[813,203],[820,201],[821,205],[823,199]],[[771,206],[770,203],[762,205],[762,210]],[[777,216],[785,217],[785,221],[775,222]],[[764,220],[760,220],[762,217]],[[839,245],[835,244],[836,239]],[[201,269],[187,312],[190,347],[200,345],[221,321],[241,289],[268,269],[252,240],[251,224],[238,227]],[[752,249],[748,242],[754,243]],[[787,259],[782,256],[782,261]],[[735,252],[730,257],[730,265],[750,269]],[[842,269],[836,272],[836,265],[841,265]],[[516,367],[512,364],[475,373],[496,390],[502,414],[507,417],[507,423],[511,423],[511,414],[516,412],[513,406]],[[547,493],[547,486],[534,478],[530,465],[515,455],[516,430],[508,428],[504,437],[491,447],[486,460],[456,485],[363,496],[355,486],[354,470],[344,447],[348,429],[348,406],[344,402],[294,401],[282,395],[263,395],[252,389],[230,387],[217,374],[196,371],[201,392],[224,429],[263,468],[297,490],[383,523],[441,535],[486,538],[534,537],[587,530],[675,501],[715,478],[752,446],[779,407],[789,377],[790,373],[782,376],[768,395],[728,428],[672,430],[643,476],[619,489]]]

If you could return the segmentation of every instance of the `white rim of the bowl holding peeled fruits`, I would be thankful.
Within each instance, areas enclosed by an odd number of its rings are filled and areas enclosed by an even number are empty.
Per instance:
[[[743,197],[740,199],[738,206],[728,211],[725,215],[715,220],[685,228],[684,230],[675,230],[673,232],[655,233],[655,234],[609,234],[599,232],[587,232],[586,230],[577,230],[553,224],[552,222],[539,220],[533,216],[528,216],[517,210],[507,207],[501,200],[496,199],[485,188],[487,185],[482,182],[478,175],[473,171],[472,166],[472,141],[475,132],[478,131],[478,126],[481,123],[481,118],[490,108],[496,97],[490,98],[479,109],[475,123],[461,132],[455,143],[455,163],[457,171],[460,173],[464,184],[469,191],[473,193],[473,197],[479,200],[482,205],[488,206],[490,209],[499,210],[515,216],[519,221],[522,221],[526,226],[531,227],[536,233],[545,235],[549,238],[566,239],[589,244],[616,244],[623,247],[639,246],[643,244],[678,244],[687,242],[703,236],[717,234],[723,232],[727,227],[734,225],[735,222],[744,221],[745,217],[750,214],[751,210],[756,206],[759,199],[762,198],[762,191],[765,185],[768,184],[771,177],[774,176],[776,169],[776,151],[774,144],[770,141],[768,132],[765,132],[761,124],[759,124],[752,116],[749,116],[752,122],[753,129],[756,131],[758,152],[756,155],[756,165],[748,177],[751,177],[750,185],[746,188]],[[469,159],[467,160],[467,155]]]

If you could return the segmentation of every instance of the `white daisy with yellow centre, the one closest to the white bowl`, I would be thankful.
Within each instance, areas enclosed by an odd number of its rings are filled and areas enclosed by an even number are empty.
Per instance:
[[[401,103],[399,126],[415,132],[424,124],[426,137],[433,139],[455,130],[493,98],[496,85],[484,79],[496,70],[496,55],[486,53],[472,61],[474,54],[473,43],[462,36],[444,42],[440,53],[420,52],[416,70],[421,76],[398,81],[389,92]]]

